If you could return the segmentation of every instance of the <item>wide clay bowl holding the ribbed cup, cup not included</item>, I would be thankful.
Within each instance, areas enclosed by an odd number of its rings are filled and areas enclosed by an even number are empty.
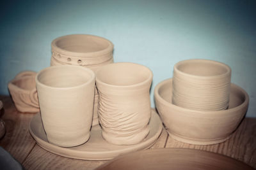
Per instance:
[[[155,87],[154,97],[168,134],[178,141],[194,145],[211,145],[230,138],[249,103],[248,94],[232,83],[227,110],[196,111],[181,108],[172,104],[172,78]]]

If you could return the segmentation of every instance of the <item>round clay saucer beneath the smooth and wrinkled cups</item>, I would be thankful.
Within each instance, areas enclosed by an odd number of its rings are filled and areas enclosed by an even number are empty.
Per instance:
[[[62,148],[48,142],[40,113],[37,113],[30,122],[29,132],[38,145],[57,155],[83,160],[109,160],[121,153],[135,152],[152,146],[163,129],[162,122],[154,110],[151,111],[151,118],[148,126],[150,128],[148,136],[141,143],[135,145],[113,145],[108,143],[102,138],[100,125],[94,125],[91,129],[90,139],[86,143],[76,147]]]

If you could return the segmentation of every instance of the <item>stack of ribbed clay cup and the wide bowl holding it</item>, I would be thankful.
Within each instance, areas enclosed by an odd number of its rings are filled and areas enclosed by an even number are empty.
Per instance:
[[[248,94],[230,83],[231,69],[212,60],[175,64],[173,78],[154,89],[157,111],[168,134],[193,145],[230,138],[248,108]]]

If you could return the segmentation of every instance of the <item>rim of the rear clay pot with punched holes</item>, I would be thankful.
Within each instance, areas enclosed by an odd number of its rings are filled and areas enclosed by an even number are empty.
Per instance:
[[[73,36],[99,38],[103,41],[106,41],[106,43],[108,43],[108,46],[103,50],[99,50],[99,51],[95,51],[95,52],[72,52],[69,50],[64,50],[63,48],[60,48],[60,46],[57,46],[57,42],[61,41],[61,39],[69,38],[69,37],[73,37]],[[60,36],[52,41],[51,46],[52,46],[52,50],[56,50],[57,52],[65,53],[65,55],[76,56],[76,57],[101,57],[102,55],[112,52],[113,48],[114,48],[113,43],[111,41],[109,41],[108,39],[102,38],[100,36],[94,36],[91,34],[68,34],[66,36]]]

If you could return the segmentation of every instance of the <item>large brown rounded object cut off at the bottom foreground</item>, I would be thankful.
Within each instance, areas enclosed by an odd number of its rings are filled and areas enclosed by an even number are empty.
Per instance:
[[[188,148],[157,148],[121,155],[97,168],[97,170],[108,169],[249,170],[253,168],[218,153]]]

